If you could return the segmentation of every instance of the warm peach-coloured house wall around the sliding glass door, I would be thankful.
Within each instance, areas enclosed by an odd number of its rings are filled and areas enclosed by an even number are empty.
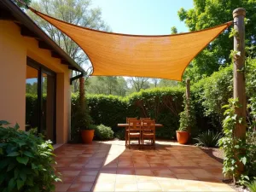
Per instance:
[[[56,136],[57,143],[67,143],[70,119],[70,85],[67,66],[51,57],[48,49],[39,49],[34,38],[20,35],[12,21],[0,20],[0,119],[17,122],[25,129],[26,56],[57,74]]]

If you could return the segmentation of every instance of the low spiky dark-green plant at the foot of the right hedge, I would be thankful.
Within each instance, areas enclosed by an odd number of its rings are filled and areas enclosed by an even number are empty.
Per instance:
[[[205,131],[202,132],[198,137],[195,137],[195,141],[197,142],[196,146],[215,148],[218,147],[218,140],[221,138],[221,132],[215,133],[214,131]]]

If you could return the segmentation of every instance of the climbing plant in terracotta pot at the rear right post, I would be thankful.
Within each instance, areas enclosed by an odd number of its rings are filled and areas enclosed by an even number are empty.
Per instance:
[[[188,143],[191,127],[195,126],[195,113],[189,99],[184,100],[184,111],[179,113],[179,128],[176,131],[177,142],[180,144]]]

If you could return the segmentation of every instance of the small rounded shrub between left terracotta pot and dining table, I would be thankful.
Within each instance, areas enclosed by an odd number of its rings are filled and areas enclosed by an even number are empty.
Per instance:
[[[105,125],[93,126],[95,129],[95,138],[99,140],[110,140],[113,139],[113,131],[111,127]]]

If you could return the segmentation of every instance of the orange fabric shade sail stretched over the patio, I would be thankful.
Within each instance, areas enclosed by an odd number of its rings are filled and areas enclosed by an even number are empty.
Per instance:
[[[102,76],[181,80],[189,62],[232,23],[177,35],[138,36],[75,26],[31,10],[79,44],[90,58],[92,75]]]

